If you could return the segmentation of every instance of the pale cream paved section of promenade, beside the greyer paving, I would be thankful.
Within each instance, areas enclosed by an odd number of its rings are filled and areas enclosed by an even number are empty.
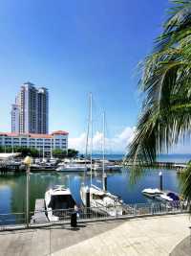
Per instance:
[[[188,226],[189,217],[185,215],[125,221],[115,229],[57,251],[53,256],[167,256],[188,236]]]

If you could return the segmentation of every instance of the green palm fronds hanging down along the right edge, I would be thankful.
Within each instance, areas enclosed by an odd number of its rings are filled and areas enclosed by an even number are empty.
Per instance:
[[[125,160],[140,167],[191,134],[191,0],[172,1],[163,32],[141,68],[142,109]],[[191,200],[191,166],[182,192]]]

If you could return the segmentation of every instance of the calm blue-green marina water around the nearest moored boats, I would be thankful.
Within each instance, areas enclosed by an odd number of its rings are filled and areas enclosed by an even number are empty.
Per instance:
[[[108,191],[121,197],[126,203],[146,202],[141,195],[144,188],[159,187],[159,171],[163,173],[163,187],[178,191],[179,181],[175,170],[152,170],[145,173],[134,186],[129,182],[129,171],[108,174]],[[44,198],[46,190],[53,185],[70,187],[74,200],[80,204],[79,189],[83,174],[32,173],[30,175],[30,210],[34,210],[35,199]],[[90,175],[86,183],[90,184]],[[101,186],[101,175],[93,178],[96,186]],[[26,205],[26,175],[0,175],[0,213],[24,212]]]

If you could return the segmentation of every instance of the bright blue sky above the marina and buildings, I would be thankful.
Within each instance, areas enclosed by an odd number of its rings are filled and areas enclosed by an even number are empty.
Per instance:
[[[108,151],[124,151],[140,109],[138,62],[152,51],[167,7],[167,0],[0,0],[0,130],[11,130],[11,104],[32,81],[49,89],[50,131],[69,131],[70,147],[85,147],[92,92],[95,150],[105,110]]]

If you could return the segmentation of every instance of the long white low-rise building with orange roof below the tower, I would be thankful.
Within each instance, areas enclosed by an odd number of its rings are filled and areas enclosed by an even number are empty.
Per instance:
[[[67,131],[57,130],[51,134],[20,134],[12,132],[0,132],[0,147],[26,147],[36,149],[46,155],[51,155],[55,149],[68,150]]]

